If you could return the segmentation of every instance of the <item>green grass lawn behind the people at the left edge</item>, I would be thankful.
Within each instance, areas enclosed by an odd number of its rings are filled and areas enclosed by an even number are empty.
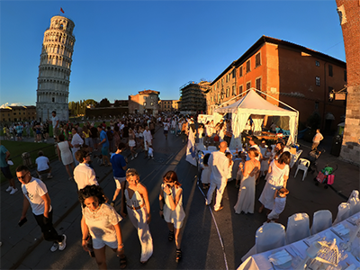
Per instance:
[[[52,144],[48,143],[35,143],[35,142],[24,142],[24,141],[14,141],[14,140],[2,140],[1,143],[6,149],[10,152],[10,159],[13,160],[14,165],[10,166],[10,170],[15,177],[16,167],[23,164],[22,154],[24,152],[29,152],[31,156],[31,167],[35,164],[35,159],[38,157],[39,150],[44,152],[45,157],[49,159],[54,159],[57,157],[56,148]],[[0,175],[0,183],[7,181],[4,178],[4,175]]]

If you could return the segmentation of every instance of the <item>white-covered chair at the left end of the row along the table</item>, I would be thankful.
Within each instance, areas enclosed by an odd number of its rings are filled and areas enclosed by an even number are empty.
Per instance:
[[[285,245],[285,227],[279,223],[265,223],[255,238],[257,254]]]

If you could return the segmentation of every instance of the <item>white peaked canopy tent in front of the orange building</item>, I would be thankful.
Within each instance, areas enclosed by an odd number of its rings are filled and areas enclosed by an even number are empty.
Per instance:
[[[254,89],[256,90],[256,89]],[[215,109],[215,113],[232,113],[232,133],[231,147],[239,145],[241,142],[241,132],[244,130],[249,116],[254,121],[256,130],[261,130],[261,125],[264,121],[265,115],[287,116],[289,117],[290,137],[288,144],[296,143],[297,126],[299,121],[299,112],[289,107],[291,110],[286,110],[269,103],[254,91],[253,88],[247,90],[247,94],[235,103],[229,106]],[[260,91],[258,91],[260,92]],[[262,93],[262,92],[260,92]],[[235,138],[235,139],[234,139]]]

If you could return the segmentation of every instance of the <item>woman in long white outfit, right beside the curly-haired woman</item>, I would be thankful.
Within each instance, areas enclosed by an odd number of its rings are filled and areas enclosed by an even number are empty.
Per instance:
[[[139,174],[133,168],[126,171],[126,181],[121,183],[121,190],[121,216],[126,217],[124,212],[126,207],[132,225],[138,229],[141,244],[140,263],[145,264],[153,251],[152,237],[148,228],[151,220],[148,190],[139,183]]]

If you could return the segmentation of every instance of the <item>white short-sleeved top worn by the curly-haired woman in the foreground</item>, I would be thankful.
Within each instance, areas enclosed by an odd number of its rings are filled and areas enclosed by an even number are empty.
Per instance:
[[[118,224],[122,218],[110,205],[103,203],[95,211],[84,207],[83,216],[92,238],[103,239],[106,242],[117,240],[116,230],[113,226]]]

